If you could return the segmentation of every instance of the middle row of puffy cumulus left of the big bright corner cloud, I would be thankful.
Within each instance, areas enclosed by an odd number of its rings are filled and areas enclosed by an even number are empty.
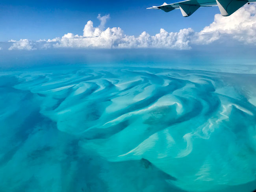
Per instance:
[[[147,32],[138,37],[125,35],[121,28],[107,28],[101,30],[94,27],[92,21],[88,21],[83,29],[83,36],[72,33],[65,34],[53,47],[71,48],[170,48],[190,49],[190,37],[193,36],[191,28],[179,32],[168,33],[164,29],[160,33],[151,36]],[[48,40],[52,42],[53,40]],[[55,41],[55,40],[54,40]]]

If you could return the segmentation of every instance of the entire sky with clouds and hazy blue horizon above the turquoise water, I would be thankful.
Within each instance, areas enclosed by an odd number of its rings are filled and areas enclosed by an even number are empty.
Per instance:
[[[255,64],[255,4],[229,17],[221,16],[218,7],[202,7],[185,18],[180,10],[146,9],[163,2],[2,0],[0,68]]]

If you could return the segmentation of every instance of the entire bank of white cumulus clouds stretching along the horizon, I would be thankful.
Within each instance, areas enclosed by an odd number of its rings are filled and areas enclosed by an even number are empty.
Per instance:
[[[193,45],[210,44],[219,41],[228,44],[236,40],[241,44],[256,45],[256,6],[244,6],[229,17],[216,14],[214,21],[203,30],[195,32],[191,28],[178,32],[167,32],[150,35],[146,31],[138,37],[126,35],[119,27],[105,28],[109,15],[97,17],[98,27],[89,20],[83,29],[83,35],[67,33],[54,39],[30,41],[20,39],[13,42],[9,50],[36,50],[47,48],[167,48],[189,50]]]

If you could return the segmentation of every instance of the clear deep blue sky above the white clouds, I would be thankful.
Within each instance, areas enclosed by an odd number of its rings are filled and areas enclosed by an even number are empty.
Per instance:
[[[1,0],[0,41],[52,39],[67,32],[81,34],[88,20],[99,24],[96,18],[98,13],[110,14],[111,19],[106,26],[118,26],[127,35],[139,35],[143,31],[154,35],[161,28],[176,32],[191,27],[200,31],[213,22],[214,15],[219,13],[217,7],[203,7],[191,17],[184,18],[180,10],[165,13],[146,9],[163,2],[164,0]]]

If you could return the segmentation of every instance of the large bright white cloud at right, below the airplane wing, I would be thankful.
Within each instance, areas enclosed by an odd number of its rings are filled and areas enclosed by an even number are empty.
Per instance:
[[[221,38],[256,45],[256,6],[245,5],[229,17],[216,14],[214,21],[196,34],[195,43],[209,44]]]

